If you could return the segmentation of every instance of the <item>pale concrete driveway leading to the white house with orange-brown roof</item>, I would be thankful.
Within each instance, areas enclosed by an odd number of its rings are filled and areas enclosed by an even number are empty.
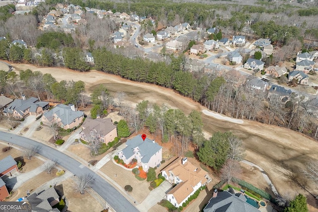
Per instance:
[[[164,181],[157,187],[152,190],[147,198],[137,206],[139,211],[148,212],[154,205],[159,203],[165,196],[165,194],[172,188],[171,184],[168,181]]]

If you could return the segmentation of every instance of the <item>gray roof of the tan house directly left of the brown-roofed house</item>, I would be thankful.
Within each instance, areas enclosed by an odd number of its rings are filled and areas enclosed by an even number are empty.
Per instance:
[[[52,120],[54,114],[61,119],[63,125],[71,124],[75,119],[84,115],[81,111],[73,111],[70,106],[58,104],[52,110],[44,113],[43,116],[48,120]]]

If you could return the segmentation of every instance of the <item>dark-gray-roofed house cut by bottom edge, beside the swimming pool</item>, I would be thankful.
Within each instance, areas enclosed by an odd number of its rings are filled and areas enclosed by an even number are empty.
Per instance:
[[[233,191],[233,189],[231,189]],[[213,197],[203,212],[260,212],[254,206],[247,203],[247,199],[242,193],[231,194],[228,191],[218,192],[214,190]]]

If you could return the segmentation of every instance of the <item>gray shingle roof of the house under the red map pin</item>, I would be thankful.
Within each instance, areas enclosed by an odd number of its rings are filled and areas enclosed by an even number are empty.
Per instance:
[[[143,141],[141,135],[135,136],[134,138],[128,140],[126,145],[127,147],[122,150],[125,157],[129,158],[134,155],[133,149],[138,146],[140,149],[139,153],[143,157],[141,159],[143,163],[148,163],[150,158],[162,148],[162,146],[150,139],[146,138],[145,141]]]

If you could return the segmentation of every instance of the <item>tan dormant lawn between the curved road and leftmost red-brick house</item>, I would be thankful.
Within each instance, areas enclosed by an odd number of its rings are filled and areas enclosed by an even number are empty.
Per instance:
[[[31,160],[24,159],[22,152],[20,152],[19,150],[15,148],[11,148],[10,150],[6,152],[2,152],[2,148],[6,146],[7,145],[0,144],[0,149],[1,149],[0,160],[2,160],[4,157],[7,157],[8,155],[11,155],[15,161],[21,161],[22,164],[24,164],[22,166],[23,173],[29,172],[43,164],[43,161],[36,157],[32,157]]]

